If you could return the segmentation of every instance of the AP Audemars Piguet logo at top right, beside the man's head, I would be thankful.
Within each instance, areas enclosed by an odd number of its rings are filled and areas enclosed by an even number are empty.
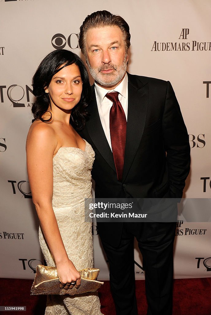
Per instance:
[[[189,34],[189,28],[182,28],[178,37],[179,41],[154,41],[151,51],[211,51],[211,42],[199,42],[197,40],[188,41]]]

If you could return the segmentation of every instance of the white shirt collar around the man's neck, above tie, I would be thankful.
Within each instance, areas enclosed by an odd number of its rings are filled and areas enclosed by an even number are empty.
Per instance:
[[[112,90],[104,89],[101,86],[97,85],[97,83],[95,82],[95,95],[96,97],[98,97],[100,105],[102,104],[102,101],[106,94],[110,92],[114,91],[119,92],[119,94],[121,94],[124,98],[127,98],[127,84],[128,84],[127,72],[125,73],[122,82],[119,85],[117,85],[115,89]]]

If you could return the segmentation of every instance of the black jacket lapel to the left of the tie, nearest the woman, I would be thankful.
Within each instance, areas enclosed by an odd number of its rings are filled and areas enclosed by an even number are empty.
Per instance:
[[[89,120],[86,122],[86,129],[89,133],[91,140],[96,146],[97,150],[100,152],[102,157],[106,160],[106,162],[110,165],[110,167],[116,172],[113,154],[111,152],[111,148],[106,139],[106,135],[104,133],[100,116],[97,108],[97,101],[95,97],[95,89],[92,86],[92,95],[93,99],[89,106],[87,107],[87,111],[89,112]]]

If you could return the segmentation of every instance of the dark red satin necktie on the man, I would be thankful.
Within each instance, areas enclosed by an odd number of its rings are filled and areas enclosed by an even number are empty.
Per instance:
[[[122,173],[125,157],[125,142],[127,120],[122,104],[118,98],[119,92],[111,92],[106,94],[106,97],[113,102],[110,109],[110,135],[111,147],[116,167],[117,179],[122,181]]]

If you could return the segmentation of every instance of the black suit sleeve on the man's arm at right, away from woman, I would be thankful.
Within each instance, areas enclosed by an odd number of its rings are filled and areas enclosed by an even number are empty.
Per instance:
[[[190,145],[187,129],[174,90],[167,82],[162,131],[169,169],[170,194],[181,198],[190,171]]]

